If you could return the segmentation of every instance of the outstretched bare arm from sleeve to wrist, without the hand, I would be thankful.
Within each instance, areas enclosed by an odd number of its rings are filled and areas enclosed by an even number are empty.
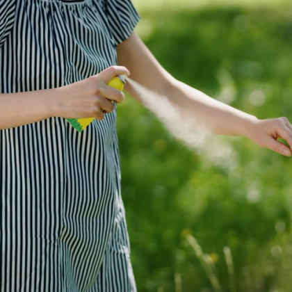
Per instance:
[[[138,38],[136,33],[117,47],[120,65],[126,66],[130,78],[154,94],[166,97],[175,106],[188,126],[222,135],[248,135],[248,128],[256,117],[208,97],[174,79]],[[140,102],[140,92],[130,84],[125,89]]]

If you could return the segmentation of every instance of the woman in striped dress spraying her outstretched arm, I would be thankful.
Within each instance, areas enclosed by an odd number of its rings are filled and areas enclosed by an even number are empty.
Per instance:
[[[212,133],[291,156],[277,141],[292,145],[285,117],[258,120],[165,72],[133,32],[131,0],[0,4],[1,291],[136,291],[115,131],[124,95],[106,86],[117,74]],[[65,117],[96,120],[77,132]]]

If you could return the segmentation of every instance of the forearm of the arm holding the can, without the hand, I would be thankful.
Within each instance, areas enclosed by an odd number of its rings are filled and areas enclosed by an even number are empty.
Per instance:
[[[56,114],[57,89],[0,94],[0,129],[39,122]]]

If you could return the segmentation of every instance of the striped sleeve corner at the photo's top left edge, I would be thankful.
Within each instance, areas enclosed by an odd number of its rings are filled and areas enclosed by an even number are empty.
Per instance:
[[[0,0],[0,47],[13,28],[16,0]]]

